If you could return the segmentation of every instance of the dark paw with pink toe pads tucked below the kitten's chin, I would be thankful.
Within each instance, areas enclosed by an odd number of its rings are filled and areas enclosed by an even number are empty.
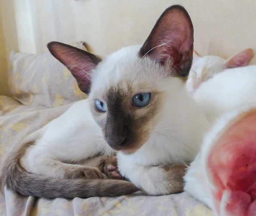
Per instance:
[[[121,174],[117,170],[117,158],[115,156],[105,156],[101,164],[100,169],[108,178],[122,179]]]

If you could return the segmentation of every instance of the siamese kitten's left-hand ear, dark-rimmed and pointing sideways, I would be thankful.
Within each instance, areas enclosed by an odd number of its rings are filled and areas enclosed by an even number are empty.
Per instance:
[[[47,47],[50,53],[70,70],[80,90],[88,94],[92,70],[96,68],[101,59],[89,52],[60,42],[50,42]]]

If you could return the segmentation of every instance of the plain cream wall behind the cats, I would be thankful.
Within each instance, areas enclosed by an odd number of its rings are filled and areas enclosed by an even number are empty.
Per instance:
[[[109,54],[143,43],[163,10],[176,3],[191,16],[200,54],[229,57],[244,48],[256,50],[256,1],[0,0],[6,50],[40,53],[52,40],[86,40],[97,54]]]

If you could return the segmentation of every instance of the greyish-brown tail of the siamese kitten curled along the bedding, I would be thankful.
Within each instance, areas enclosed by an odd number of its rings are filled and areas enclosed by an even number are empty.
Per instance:
[[[111,179],[53,179],[30,174],[19,163],[20,154],[5,161],[1,180],[7,189],[23,196],[42,198],[113,197],[139,191],[128,181]]]

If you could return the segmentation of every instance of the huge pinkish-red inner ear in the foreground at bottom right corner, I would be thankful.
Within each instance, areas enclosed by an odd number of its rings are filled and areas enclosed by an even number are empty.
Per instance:
[[[256,204],[256,110],[228,128],[213,147],[207,167],[217,187],[212,191],[217,212],[223,211],[224,202],[227,216],[249,216],[248,207]]]

